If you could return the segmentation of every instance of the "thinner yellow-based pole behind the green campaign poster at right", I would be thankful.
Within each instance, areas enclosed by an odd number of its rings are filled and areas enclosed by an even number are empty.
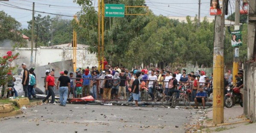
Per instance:
[[[240,30],[240,0],[236,0],[236,10],[235,10],[235,31],[236,30]],[[235,50],[236,48],[238,48],[238,46],[236,46],[234,48],[234,58],[233,58],[233,82],[236,81],[236,77],[235,75],[238,73],[238,63],[239,63],[239,57],[235,56]]]

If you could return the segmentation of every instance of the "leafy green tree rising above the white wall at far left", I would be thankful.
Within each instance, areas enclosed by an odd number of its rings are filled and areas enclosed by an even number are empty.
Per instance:
[[[8,40],[13,41],[11,44],[16,44],[17,47],[25,45],[20,27],[20,22],[17,22],[15,18],[0,11],[0,47],[5,46],[5,42]]]

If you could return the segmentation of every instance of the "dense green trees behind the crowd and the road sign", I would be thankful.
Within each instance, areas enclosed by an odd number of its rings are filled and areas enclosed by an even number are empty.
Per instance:
[[[90,0],[75,0],[83,11],[78,13],[79,25],[73,21],[78,31],[78,40],[90,45],[90,52],[98,52],[98,14]],[[145,0],[108,0],[105,3],[142,6]],[[128,13],[142,14],[144,8],[127,8]],[[101,18],[100,18],[101,19]],[[132,67],[141,63],[149,65],[166,61],[170,66],[185,66],[187,63],[200,67],[211,67],[213,60],[214,22],[205,17],[198,27],[197,17],[186,17],[187,23],[156,16],[126,15],[124,18],[104,18],[104,56],[111,65],[121,64]],[[241,59],[247,54],[245,30],[243,25],[243,46],[240,48]],[[102,30],[102,29],[100,29]],[[225,61],[233,61],[233,47],[226,30]]]

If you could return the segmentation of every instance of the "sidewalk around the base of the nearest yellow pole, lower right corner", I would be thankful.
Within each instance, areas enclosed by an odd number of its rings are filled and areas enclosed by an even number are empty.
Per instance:
[[[212,108],[207,109],[205,116],[207,119],[204,120],[203,132],[210,130],[212,133],[253,133],[256,130],[256,124],[249,124],[240,105],[235,105],[232,108],[224,107],[224,123],[217,126],[212,123]]]

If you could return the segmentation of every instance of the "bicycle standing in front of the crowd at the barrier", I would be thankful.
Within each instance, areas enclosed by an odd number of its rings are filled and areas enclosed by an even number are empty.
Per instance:
[[[184,105],[186,107],[190,108],[190,101],[189,101],[188,95],[186,94],[186,90],[187,90],[187,88],[184,89],[182,93],[180,93],[180,97],[178,99],[176,99],[176,96],[177,96],[176,92],[173,93],[172,96],[165,96],[165,97],[163,97],[162,105],[164,107],[168,108],[166,103],[168,103],[169,106],[173,107],[173,106],[178,105],[178,103],[180,101],[183,101]]]

